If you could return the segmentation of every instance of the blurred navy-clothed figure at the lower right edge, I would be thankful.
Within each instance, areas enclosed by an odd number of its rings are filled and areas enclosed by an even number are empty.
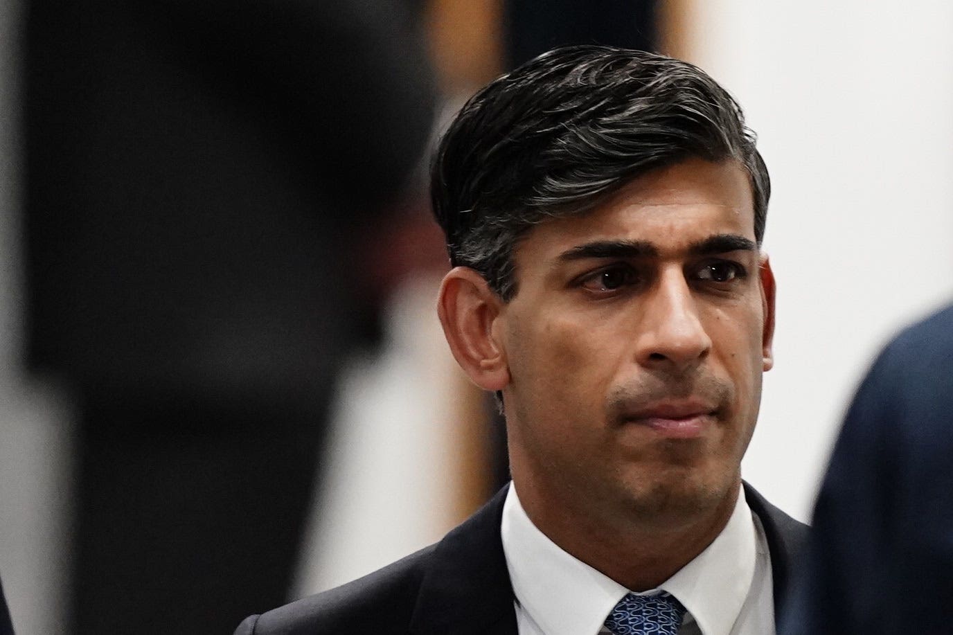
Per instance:
[[[814,510],[784,635],[953,632],[953,307],[874,363]]]

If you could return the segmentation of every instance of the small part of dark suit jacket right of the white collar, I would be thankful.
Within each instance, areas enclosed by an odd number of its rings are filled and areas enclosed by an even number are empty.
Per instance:
[[[764,527],[768,551],[771,553],[771,577],[774,584],[775,625],[784,610],[792,572],[797,568],[807,542],[808,527],[795,521],[770,502],[758,491],[744,483],[744,498],[751,511],[758,515]]]

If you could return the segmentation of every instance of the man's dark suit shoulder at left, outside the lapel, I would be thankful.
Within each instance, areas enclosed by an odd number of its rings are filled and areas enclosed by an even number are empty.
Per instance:
[[[352,583],[253,615],[235,635],[407,632],[435,547],[421,549]]]

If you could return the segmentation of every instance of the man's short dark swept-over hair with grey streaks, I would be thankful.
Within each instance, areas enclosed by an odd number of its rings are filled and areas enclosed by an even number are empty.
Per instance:
[[[604,46],[545,52],[477,92],[443,134],[431,198],[451,264],[504,301],[517,293],[517,240],[579,215],[634,178],[691,157],[735,159],[764,235],[767,167],[738,103],[698,67]]]

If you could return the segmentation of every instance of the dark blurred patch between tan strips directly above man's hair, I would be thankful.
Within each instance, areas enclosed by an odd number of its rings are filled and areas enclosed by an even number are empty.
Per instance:
[[[658,50],[657,0],[506,0],[506,66],[570,44]]]

